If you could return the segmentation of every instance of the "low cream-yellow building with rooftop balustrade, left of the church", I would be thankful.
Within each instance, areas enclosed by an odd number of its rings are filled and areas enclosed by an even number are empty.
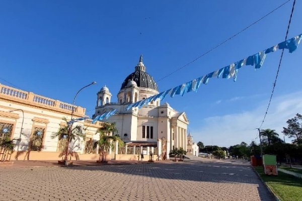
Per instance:
[[[4,157],[11,160],[62,159],[62,142],[52,136],[60,126],[66,125],[62,118],[70,120],[72,107],[73,118],[85,117],[85,108],[0,84],[0,140],[9,136],[10,139],[16,140],[17,145],[12,155],[5,156],[4,150],[1,149],[0,160]],[[98,140],[99,136],[95,134],[102,123],[92,124],[92,120],[86,119],[75,123],[77,124],[87,127],[86,139],[72,141],[72,159],[77,156],[81,160],[97,160],[97,150],[91,150],[89,145]],[[29,143],[33,140],[39,146],[29,148]]]

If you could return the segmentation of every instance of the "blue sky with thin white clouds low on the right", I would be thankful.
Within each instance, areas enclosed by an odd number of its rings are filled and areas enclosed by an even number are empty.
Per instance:
[[[96,93],[116,94],[140,54],[159,80],[258,20],[285,1],[1,1],[0,82],[94,113]],[[285,38],[292,1],[186,68],[158,82],[163,91],[275,45]],[[302,33],[297,1],[289,38]],[[301,47],[284,54],[271,109],[262,128],[280,132],[301,113]],[[185,111],[194,141],[230,146],[255,139],[281,51],[262,69],[243,68],[236,82],[211,79],[198,92],[167,98]],[[15,86],[15,87],[16,87]],[[280,132],[280,137],[283,135]],[[258,139],[259,140],[259,139]],[[286,139],[289,141],[288,139]]]

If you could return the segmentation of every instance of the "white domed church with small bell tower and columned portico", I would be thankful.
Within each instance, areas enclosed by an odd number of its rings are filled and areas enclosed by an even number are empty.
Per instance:
[[[97,115],[117,110],[108,122],[115,122],[118,134],[129,146],[158,147],[162,158],[169,158],[170,150],[187,150],[187,126],[189,121],[185,112],[177,112],[168,103],[161,104],[158,98],[141,109],[131,108],[129,104],[159,93],[154,78],[146,72],[142,56],[133,73],[128,75],[117,93],[118,102],[111,103],[111,92],[107,86],[97,93]]]

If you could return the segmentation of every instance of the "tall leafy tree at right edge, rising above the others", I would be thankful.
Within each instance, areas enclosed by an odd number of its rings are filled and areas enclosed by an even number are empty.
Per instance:
[[[289,138],[296,138],[293,142],[297,144],[302,143],[302,124],[299,122],[302,120],[302,115],[296,114],[292,119],[286,121],[287,128],[283,127],[282,133]]]

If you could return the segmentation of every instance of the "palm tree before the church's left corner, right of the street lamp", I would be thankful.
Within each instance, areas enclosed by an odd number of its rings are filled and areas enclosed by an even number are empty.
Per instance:
[[[105,155],[106,149],[108,149],[108,148],[111,149],[112,144],[110,141],[111,140],[113,141],[115,139],[117,140],[116,135],[112,136],[113,132],[117,132],[115,122],[114,123],[108,123],[108,122],[104,123],[103,127],[100,128],[97,132],[100,135],[100,139],[95,142],[94,149],[97,148],[97,146],[99,145],[100,150],[102,150],[102,161],[106,161],[106,157],[104,160],[104,155]],[[101,151],[99,153],[100,153],[99,160],[101,160]]]

